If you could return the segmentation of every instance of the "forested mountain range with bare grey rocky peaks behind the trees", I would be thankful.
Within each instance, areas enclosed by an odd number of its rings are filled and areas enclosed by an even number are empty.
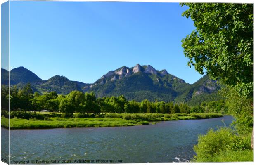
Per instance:
[[[5,76],[8,71],[1,68],[1,84],[8,84]],[[120,96],[128,100],[142,101],[175,101],[189,104],[200,104],[202,101],[218,99],[217,91],[220,86],[216,80],[211,80],[207,75],[194,84],[169,74],[165,69],[157,71],[150,65],[134,67],[122,66],[114,71],[109,71],[96,82],[83,83],[71,81],[60,75],[55,75],[48,80],[42,80],[36,74],[24,67],[14,68],[10,71],[10,85],[23,87],[30,82],[34,91],[44,94],[55,91],[58,94],[68,94],[73,90],[81,92],[94,92],[96,97]]]

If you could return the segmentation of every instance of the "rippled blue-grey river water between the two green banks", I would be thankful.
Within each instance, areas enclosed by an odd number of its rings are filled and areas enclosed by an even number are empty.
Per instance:
[[[186,161],[195,154],[193,146],[197,144],[198,134],[206,134],[209,128],[224,126],[222,119],[225,119],[225,125],[232,122],[231,116],[225,116],[132,127],[11,130],[11,161]]]

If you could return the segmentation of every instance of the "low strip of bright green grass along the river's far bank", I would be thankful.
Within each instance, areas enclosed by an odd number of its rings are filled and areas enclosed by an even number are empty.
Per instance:
[[[81,115],[81,114],[80,114]],[[94,118],[61,118],[55,113],[34,115],[34,118],[25,119],[21,115],[10,119],[10,129],[40,129],[40,128],[69,128],[69,127],[116,127],[116,126],[133,126],[148,125],[153,121],[168,120],[189,120],[201,118],[217,118],[223,116],[220,113],[177,113],[177,114],[159,114],[159,113],[107,113],[100,114]],[[8,127],[8,119],[1,117],[1,126]]]

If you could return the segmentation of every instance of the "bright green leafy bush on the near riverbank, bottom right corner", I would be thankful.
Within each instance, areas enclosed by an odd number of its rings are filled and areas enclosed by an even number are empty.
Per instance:
[[[229,127],[222,127],[214,131],[209,130],[206,135],[199,135],[198,144],[194,146],[197,156],[196,162],[214,161],[252,161],[250,135],[238,136],[237,132]],[[237,158],[232,158],[232,154]],[[250,154],[244,156],[244,154]]]

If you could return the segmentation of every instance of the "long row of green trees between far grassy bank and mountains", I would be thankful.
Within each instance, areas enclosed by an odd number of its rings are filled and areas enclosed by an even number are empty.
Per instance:
[[[2,108],[8,109],[8,88],[1,88]],[[201,106],[190,107],[186,103],[175,104],[173,102],[150,102],[147,99],[137,102],[128,101],[122,95],[119,97],[96,98],[94,93],[72,91],[67,95],[58,95],[49,92],[40,95],[33,93],[28,83],[22,89],[12,87],[10,89],[11,111],[41,111],[47,109],[51,112],[62,112],[64,116],[72,116],[73,113],[225,113],[224,101],[204,102]]]

